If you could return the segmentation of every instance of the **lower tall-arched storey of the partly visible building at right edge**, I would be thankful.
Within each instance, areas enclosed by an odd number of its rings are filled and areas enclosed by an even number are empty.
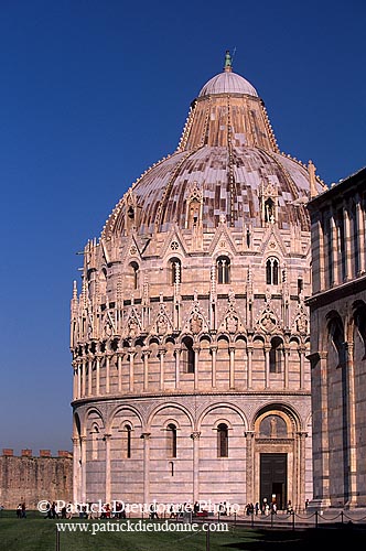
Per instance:
[[[343,290],[336,305],[332,301],[312,313],[313,326],[320,327],[312,337],[312,346],[316,347],[313,349],[319,355],[312,359],[314,498],[329,500],[333,507],[344,506],[351,499],[355,505],[366,506],[366,442],[363,437],[366,428],[365,341],[355,329],[357,336],[353,347],[351,336],[353,305],[357,301],[366,304],[366,291],[348,294]],[[332,333],[332,320],[340,323],[343,336]],[[351,358],[348,353],[343,356],[342,349],[335,345],[335,342],[338,345],[337,338],[344,343],[346,335],[351,342]],[[347,367],[349,360],[351,369]],[[352,442],[355,442],[354,453]],[[352,473],[356,480],[354,487]]]

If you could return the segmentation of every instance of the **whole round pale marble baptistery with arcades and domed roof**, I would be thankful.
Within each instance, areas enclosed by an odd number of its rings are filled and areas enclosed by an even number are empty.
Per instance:
[[[169,117],[169,114],[166,114]],[[74,499],[312,498],[306,203],[256,88],[223,71],[84,249],[71,305]]]

